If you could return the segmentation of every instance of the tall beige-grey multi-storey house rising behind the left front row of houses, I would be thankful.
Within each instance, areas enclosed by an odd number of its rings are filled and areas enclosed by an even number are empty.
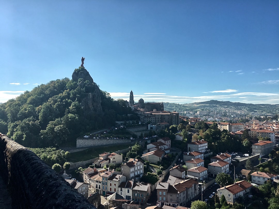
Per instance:
[[[126,180],[140,179],[143,176],[144,163],[141,159],[130,158],[128,162],[121,165],[121,172]]]

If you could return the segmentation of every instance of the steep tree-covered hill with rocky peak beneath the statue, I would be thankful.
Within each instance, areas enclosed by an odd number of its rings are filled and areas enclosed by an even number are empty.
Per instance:
[[[0,105],[0,132],[26,147],[75,144],[81,134],[129,120],[131,108],[99,89],[85,68]],[[133,117],[133,116],[131,116]]]

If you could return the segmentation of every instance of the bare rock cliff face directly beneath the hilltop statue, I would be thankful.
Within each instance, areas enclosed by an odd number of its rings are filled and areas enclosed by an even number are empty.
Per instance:
[[[94,83],[89,72],[84,67],[79,67],[74,70],[72,79],[86,92],[85,98],[81,101],[81,105],[85,112],[102,115],[101,91],[97,84]]]

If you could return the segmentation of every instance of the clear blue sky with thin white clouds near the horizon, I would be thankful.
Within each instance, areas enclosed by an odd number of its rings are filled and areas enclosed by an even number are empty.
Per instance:
[[[13,1],[0,102],[84,67],[112,98],[279,103],[279,1]]]

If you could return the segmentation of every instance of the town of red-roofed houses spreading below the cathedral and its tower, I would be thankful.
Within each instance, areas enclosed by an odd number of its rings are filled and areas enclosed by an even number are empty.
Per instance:
[[[263,159],[269,162],[273,160],[271,156],[276,156],[274,149],[278,145],[278,121],[252,119],[246,123],[232,123],[218,120],[209,122],[202,117],[187,118],[175,111],[164,111],[162,103],[143,103],[142,100],[135,104],[132,91],[129,106],[139,115],[140,123],[146,124],[146,130],[141,128],[137,132],[130,129],[137,137],[143,138],[139,142],[142,153],[127,160],[121,154],[100,153],[99,159],[82,172],[83,182],[89,191],[105,197],[106,208],[143,208],[145,205],[150,209],[183,209],[198,200],[210,208],[214,202],[219,201],[220,205],[220,200],[224,204],[224,198],[227,204],[238,205],[241,198],[251,200],[253,187],[264,185],[267,181],[277,185],[277,171],[273,174],[257,166],[261,165]],[[169,133],[168,137],[155,136],[155,140],[154,136],[151,137],[153,142],[147,137],[150,130],[162,133],[181,124],[191,127],[188,128],[187,137],[182,134],[183,130],[178,129],[176,133]],[[216,153],[217,149],[210,149],[212,144],[201,137],[203,131],[197,129],[196,124],[215,127],[235,139],[248,138],[247,153],[241,153],[242,150],[233,147],[226,147],[223,149],[225,152]],[[177,147],[177,142],[187,142],[187,145],[184,148]],[[167,158],[170,163],[162,167]],[[249,165],[251,161],[253,166]],[[110,169],[111,163],[120,165],[120,169]],[[151,177],[156,180],[151,182]],[[229,180],[224,182],[220,180],[222,178]],[[206,196],[210,199],[203,198],[202,194],[207,191],[212,191],[209,197]],[[154,192],[152,197],[157,201],[150,201]],[[154,206],[146,205],[149,202]],[[252,204],[251,201],[247,202],[243,207]]]

